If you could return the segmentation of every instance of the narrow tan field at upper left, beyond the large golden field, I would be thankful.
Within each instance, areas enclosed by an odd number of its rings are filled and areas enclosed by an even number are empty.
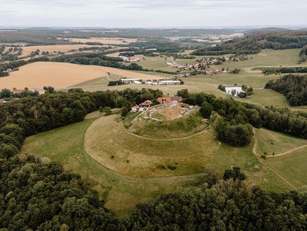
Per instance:
[[[86,44],[77,44],[77,45],[31,45],[24,46],[23,54],[21,56],[28,56],[32,51],[40,50],[41,53],[43,51],[48,51],[49,53],[53,53],[54,51],[60,52],[68,52],[69,50],[78,50],[79,48],[90,48],[94,45],[86,45]],[[99,45],[95,45],[99,46]],[[100,45],[103,46],[103,45]]]

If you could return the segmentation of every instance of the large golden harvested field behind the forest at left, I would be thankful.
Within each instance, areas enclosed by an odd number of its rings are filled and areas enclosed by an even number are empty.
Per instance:
[[[80,82],[98,77],[107,77],[107,72],[122,77],[138,77],[144,80],[158,80],[161,77],[143,73],[107,68],[92,65],[76,65],[71,63],[38,62],[24,65],[16,72],[11,72],[8,77],[0,78],[0,89],[53,86],[56,89],[67,88]]]

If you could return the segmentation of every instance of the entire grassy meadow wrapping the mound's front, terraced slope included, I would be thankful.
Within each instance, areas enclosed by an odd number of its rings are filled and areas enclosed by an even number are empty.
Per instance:
[[[212,131],[179,141],[142,140],[127,134],[117,115],[99,115],[95,112],[83,122],[30,136],[21,153],[47,157],[80,173],[117,215],[126,215],[136,203],[161,193],[200,182],[207,168],[222,175],[225,169],[239,166],[249,186],[290,189],[252,154],[252,144],[232,148],[216,141]],[[169,169],[168,163],[176,169]]]

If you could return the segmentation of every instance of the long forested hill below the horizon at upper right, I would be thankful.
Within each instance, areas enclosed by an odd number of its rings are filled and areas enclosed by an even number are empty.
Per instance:
[[[215,47],[195,50],[192,55],[254,54],[262,49],[284,50],[304,45],[307,45],[307,31],[260,31]]]

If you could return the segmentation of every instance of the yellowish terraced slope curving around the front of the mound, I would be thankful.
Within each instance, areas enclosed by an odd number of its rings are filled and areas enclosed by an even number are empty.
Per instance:
[[[85,151],[103,166],[126,176],[200,173],[220,149],[211,138],[212,131],[178,139],[151,139],[131,134],[116,117],[100,117],[93,122],[85,134]]]

